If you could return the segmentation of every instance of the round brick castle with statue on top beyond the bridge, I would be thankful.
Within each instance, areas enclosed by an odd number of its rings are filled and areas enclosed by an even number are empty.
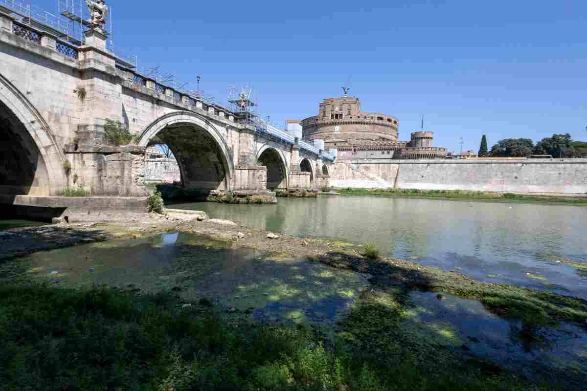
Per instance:
[[[398,141],[399,120],[382,113],[361,111],[360,100],[348,95],[326,98],[319,114],[301,121],[303,140],[323,140],[339,159],[444,159],[446,148],[432,147],[433,132],[416,131],[410,141]],[[288,121],[294,123],[296,121]]]

